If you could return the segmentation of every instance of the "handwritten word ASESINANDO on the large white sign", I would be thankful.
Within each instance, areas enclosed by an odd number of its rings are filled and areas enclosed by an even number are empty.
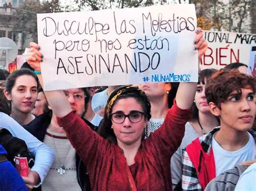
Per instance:
[[[145,52],[127,54],[85,54],[84,56],[69,56],[66,59],[58,58],[56,73],[58,74],[81,74],[87,75],[114,72],[143,73],[149,69],[158,68],[161,58],[160,53],[154,52],[149,55]]]

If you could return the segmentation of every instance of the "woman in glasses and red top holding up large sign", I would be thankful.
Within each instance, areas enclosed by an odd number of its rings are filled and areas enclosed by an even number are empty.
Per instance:
[[[207,49],[201,29],[196,29],[199,60]],[[192,43],[192,42],[191,42]],[[39,46],[30,44],[26,61],[42,81]],[[143,139],[150,115],[150,102],[144,91],[124,86],[113,91],[107,101],[105,136],[99,136],[74,111],[62,90],[45,91],[57,122],[85,162],[92,190],[171,190],[170,158],[184,136],[190,118],[197,83],[180,83],[173,107],[165,122]],[[157,144],[156,144],[157,143]]]

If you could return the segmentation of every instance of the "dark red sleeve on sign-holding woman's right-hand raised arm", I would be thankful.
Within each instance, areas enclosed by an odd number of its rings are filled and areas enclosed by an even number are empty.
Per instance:
[[[172,108],[167,111],[164,123],[156,132],[151,133],[145,144],[149,144],[148,147],[154,147],[158,154],[171,157],[181,144],[185,124],[190,116],[191,109],[180,109],[174,100]]]

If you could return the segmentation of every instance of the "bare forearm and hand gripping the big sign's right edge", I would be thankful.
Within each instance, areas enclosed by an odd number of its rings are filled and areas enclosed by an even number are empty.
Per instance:
[[[196,29],[196,38],[194,39],[194,50],[198,50],[198,68],[201,57],[207,50],[207,43],[203,38],[201,28]],[[192,42],[191,42],[192,43]],[[199,69],[200,70],[200,69]],[[176,95],[176,103],[180,109],[188,109],[191,107],[194,95],[196,94],[197,82],[181,82]]]

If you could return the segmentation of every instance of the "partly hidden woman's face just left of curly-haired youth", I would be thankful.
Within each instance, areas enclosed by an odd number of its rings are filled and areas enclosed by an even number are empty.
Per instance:
[[[205,82],[206,82],[206,80],[205,80]],[[210,112],[209,105],[206,101],[206,96],[205,96],[205,86],[206,86],[206,83],[198,84],[196,95],[194,96],[194,101],[197,105],[197,108],[198,108],[199,112],[202,112],[202,113]]]

